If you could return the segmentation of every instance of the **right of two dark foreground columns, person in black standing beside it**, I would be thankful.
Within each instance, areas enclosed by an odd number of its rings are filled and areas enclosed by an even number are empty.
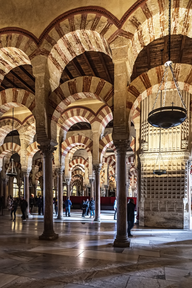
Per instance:
[[[117,235],[114,247],[130,247],[127,235],[127,193],[126,193],[126,152],[128,140],[113,141],[117,150]]]

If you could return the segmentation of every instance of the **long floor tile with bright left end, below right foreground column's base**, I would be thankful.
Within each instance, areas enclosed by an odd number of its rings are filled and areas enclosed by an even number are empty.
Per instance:
[[[127,255],[127,254],[122,254],[122,253],[111,253],[111,252],[103,252],[103,251],[85,250],[83,253],[81,253],[77,257],[96,258],[96,259],[103,259],[103,260],[137,263],[139,256],[138,255]]]

